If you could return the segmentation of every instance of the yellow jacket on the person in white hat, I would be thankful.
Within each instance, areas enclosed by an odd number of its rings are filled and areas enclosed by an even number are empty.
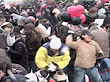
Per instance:
[[[47,44],[48,45],[48,44]],[[61,50],[63,50],[62,48]],[[64,54],[61,55],[49,55],[47,47],[41,46],[36,53],[35,62],[40,69],[45,69],[50,63],[54,62],[58,65],[58,69],[65,68],[70,62],[70,51],[66,47],[63,50]]]

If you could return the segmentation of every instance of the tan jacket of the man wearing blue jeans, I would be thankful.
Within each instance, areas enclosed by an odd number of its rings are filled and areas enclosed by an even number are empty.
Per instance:
[[[81,68],[91,68],[96,63],[96,53],[103,53],[99,45],[91,40],[86,43],[84,40],[70,41],[67,45],[77,50],[75,66]]]

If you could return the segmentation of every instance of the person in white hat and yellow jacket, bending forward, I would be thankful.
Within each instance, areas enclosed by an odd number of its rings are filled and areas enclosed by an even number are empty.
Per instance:
[[[61,39],[54,37],[41,46],[35,56],[35,62],[41,70],[56,71],[64,69],[70,61],[70,51]]]

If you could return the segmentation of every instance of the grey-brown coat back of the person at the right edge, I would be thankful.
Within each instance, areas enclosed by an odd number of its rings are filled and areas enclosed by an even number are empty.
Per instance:
[[[104,31],[103,29],[96,29],[91,31],[92,39],[95,40],[101,49],[104,52],[104,57],[109,57],[109,35],[108,32]]]

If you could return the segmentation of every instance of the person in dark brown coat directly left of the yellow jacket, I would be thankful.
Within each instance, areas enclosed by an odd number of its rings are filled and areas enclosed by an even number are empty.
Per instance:
[[[23,29],[21,35],[24,38],[24,43],[26,44],[26,48],[28,51],[28,62],[29,62],[29,71],[36,71],[35,66],[35,55],[37,50],[40,48],[42,42],[42,38],[38,32],[34,29],[35,26],[32,23],[26,24],[25,28]]]

